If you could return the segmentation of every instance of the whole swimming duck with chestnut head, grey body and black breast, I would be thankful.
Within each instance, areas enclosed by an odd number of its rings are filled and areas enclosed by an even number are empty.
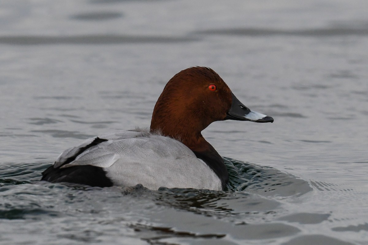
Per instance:
[[[89,138],[62,152],[41,180],[92,187],[226,190],[229,174],[223,158],[201,134],[223,120],[273,122],[243,105],[212,69],[187,68],[164,87],[149,129]]]

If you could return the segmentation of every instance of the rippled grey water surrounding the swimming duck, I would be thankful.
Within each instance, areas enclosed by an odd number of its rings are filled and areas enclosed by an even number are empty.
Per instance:
[[[0,244],[368,244],[368,1],[0,6]],[[196,65],[275,119],[203,131],[228,191],[38,182]]]

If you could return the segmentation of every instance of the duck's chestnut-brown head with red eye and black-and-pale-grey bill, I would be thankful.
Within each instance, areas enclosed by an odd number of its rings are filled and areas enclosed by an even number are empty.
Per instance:
[[[243,105],[215,71],[197,66],[177,73],[166,84],[153,109],[151,131],[181,138],[229,119],[273,122]]]

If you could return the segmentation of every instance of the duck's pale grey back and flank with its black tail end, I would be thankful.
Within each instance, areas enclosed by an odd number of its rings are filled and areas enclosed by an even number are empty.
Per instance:
[[[222,190],[213,170],[180,141],[147,130],[117,131],[89,138],[78,147],[64,151],[43,180],[85,184],[82,173],[71,167],[89,170],[89,179],[99,187],[112,185]],[[96,169],[97,167],[97,169]],[[98,168],[103,171],[96,171]],[[92,174],[92,172],[95,172]],[[78,182],[81,180],[80,182]]]

